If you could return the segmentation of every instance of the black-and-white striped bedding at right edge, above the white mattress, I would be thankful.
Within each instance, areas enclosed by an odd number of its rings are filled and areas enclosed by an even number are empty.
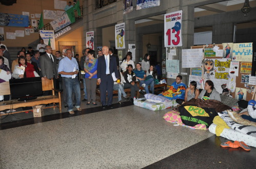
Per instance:
[[[241,133],[256,136],[256,127],[254,126],[247,126],[238,124],[237,122],[233,121],[230,116],[227,114],[227,111],[222,111],[221,113],[218,112],[218,115],[225,121],[225,123],[232,129],[237,130]]]

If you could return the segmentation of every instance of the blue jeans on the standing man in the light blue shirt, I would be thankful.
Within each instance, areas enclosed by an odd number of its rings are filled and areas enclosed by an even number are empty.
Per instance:
[[[68,104],[68,111],[73,111],[72,92],[75,93],[76,104],[75,107],[80,107],[81,104],[81,93],[80,93],[80,82],[78,78],[66,78],[62,77],[66,89],[66,101]]]

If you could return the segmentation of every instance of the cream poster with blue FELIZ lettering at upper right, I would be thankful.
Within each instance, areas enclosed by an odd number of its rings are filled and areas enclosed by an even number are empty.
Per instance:
[[[239,62],[252,62],[252,43],[234,43],[232,60]]]

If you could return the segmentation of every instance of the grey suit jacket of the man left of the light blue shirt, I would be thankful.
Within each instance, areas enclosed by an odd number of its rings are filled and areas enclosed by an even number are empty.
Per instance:
[[[40,67],[41,67],[41,74],[42,77],[47,77],[48,79],[57,78],[58,71],[57,71],[57,61],[55,55],[52,54],[54,62],[50,59],[49,55],[43,54],[40,56]]]

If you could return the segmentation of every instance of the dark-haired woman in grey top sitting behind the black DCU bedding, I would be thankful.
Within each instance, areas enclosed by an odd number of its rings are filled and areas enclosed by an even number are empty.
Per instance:
[[[206,80],[204,84],[204,90],[200,93],[199,99],[202,100],[218,100],[221,101],[219,92],[214,88],[214,82]]]

